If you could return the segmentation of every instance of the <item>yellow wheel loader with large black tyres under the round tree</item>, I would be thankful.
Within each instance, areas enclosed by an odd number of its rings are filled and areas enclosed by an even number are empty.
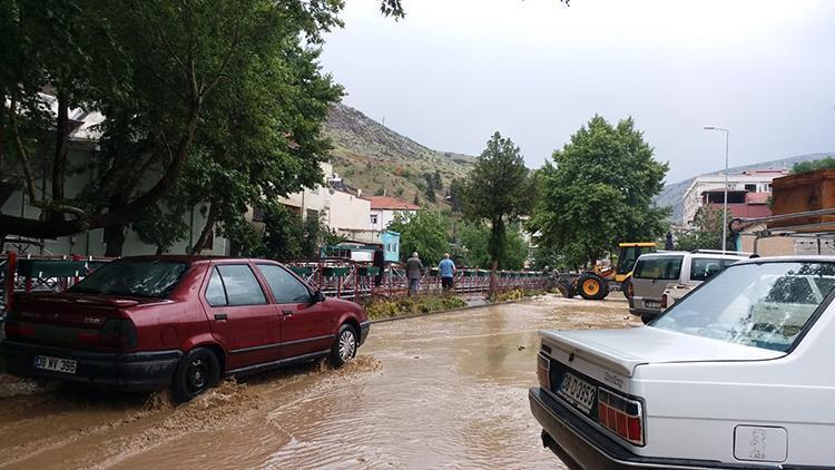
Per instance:
[[[580,294],[589,301],[606,298],[610,291],[621,291],[629,298],[632,296],[632,270],[638,256],[656,251],[654,242],[620,243],[618,264],[615,267],[595,266],[591,271],[578,274],[562,274],[557,278],[556,287],[564,297]]]

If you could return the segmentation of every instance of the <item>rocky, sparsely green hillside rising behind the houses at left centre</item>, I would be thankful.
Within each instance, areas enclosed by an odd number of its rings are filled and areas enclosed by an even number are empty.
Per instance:
[[[426,204],[426,177],[438,172],[443,200],[450,182],[461,178],[475,159],[469,155],[444,153],[424,147],[345,105],[336,105],[325,126],[332,139],[331,161],[345,182],[364,195],[396,196]]]

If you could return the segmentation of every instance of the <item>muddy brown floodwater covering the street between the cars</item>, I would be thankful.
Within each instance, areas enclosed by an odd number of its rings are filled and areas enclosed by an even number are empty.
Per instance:
[[[630,324],[620,300],[550,295],[379,323],[341,370],[227,381],[180,407],[0,374],[0,467],[560,468],[528,408],[537,331]]]

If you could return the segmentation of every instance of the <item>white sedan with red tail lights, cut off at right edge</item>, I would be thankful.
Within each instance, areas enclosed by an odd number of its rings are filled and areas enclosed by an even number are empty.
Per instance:
[[[648,326],[542,331],[531,410],[570,467],[835,468],[835,257],[737,263]]]

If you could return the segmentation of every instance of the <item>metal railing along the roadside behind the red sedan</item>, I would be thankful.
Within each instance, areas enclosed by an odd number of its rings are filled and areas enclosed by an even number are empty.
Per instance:
[[[19,292],[60,292],[110,258],[81,256],[0,255],[0,320]],[[284,263],[311,286],[325,295],[361,301],[369,296],[402,296],[409,293],[405,265],[389,263],[382,268],[367,262],[345,258],[289,260]],[[493,288],[542,288],[546,276],[540,272],[500,271]],[[442,291],[436,267],[424,270],[420,280],[421,293]],[[490,271],[459,268],[453,277],[455,293],[479,293],[490,290]]]

